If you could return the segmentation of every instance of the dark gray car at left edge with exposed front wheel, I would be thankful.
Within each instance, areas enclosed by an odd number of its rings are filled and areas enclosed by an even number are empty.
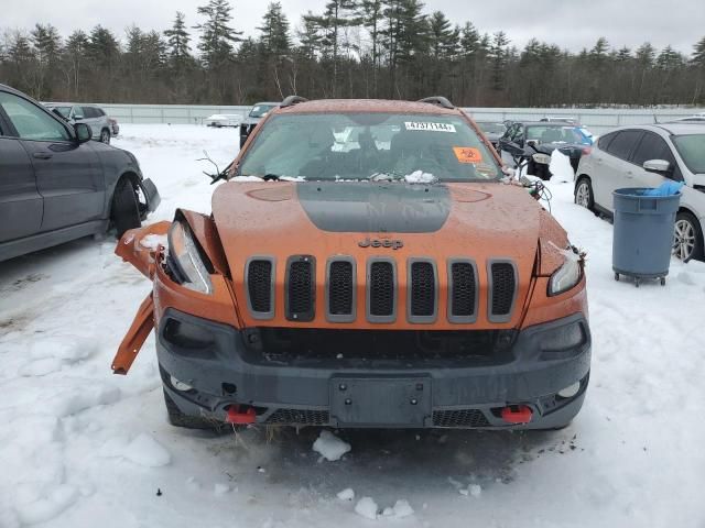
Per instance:
[[[160,202],[137,158],[0,85],[0,261],[137,228]]]

